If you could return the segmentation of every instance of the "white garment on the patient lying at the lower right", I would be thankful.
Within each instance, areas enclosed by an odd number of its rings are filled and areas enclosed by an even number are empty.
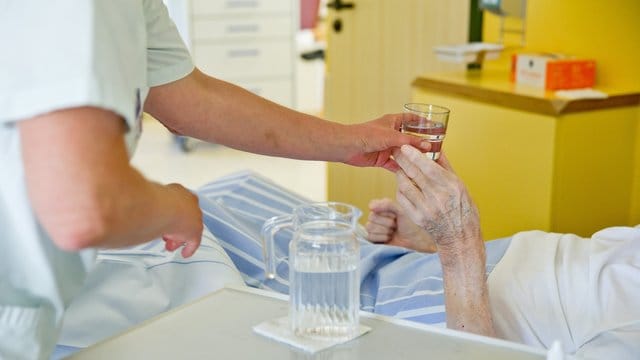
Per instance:
[[[498,336],[593,359],[640,358],[640,228],[516,234],[489,276]]]

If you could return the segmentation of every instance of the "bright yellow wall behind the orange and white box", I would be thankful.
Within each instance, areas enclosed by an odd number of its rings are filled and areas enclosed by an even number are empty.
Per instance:
[[[497,41],[499,18],[484,16],[485,41]],[[640,1],[529,0],[525,24],[524,50],[594,59],[597,87],[640,91]]]

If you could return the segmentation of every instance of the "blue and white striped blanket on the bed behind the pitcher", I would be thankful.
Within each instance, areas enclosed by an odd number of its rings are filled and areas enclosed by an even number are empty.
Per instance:
[[[249,286],[289,290],[290,230],[275,239],[276,278],[265,279],[260,229],[265,220],[309,200],[252,172],[236,173],[198,190],[206,227],[218,239]],[[487,274],[510,239],[487,243]],[[360,304],[366,311],[445,326],[442,270],[437,254],[374,245],[361,240]]]

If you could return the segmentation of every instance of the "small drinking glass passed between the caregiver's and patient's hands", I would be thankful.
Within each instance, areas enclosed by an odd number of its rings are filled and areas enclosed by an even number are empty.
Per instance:
[[[432,104],[404,104],[402,114],[403,133],[419,136],[431,143],[431,150],[425,155],[431,160],[438,160],[442,141],[447,133],[449,109]]]

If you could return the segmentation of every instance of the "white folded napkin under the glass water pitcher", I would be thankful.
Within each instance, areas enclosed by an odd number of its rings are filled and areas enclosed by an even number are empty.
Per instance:
[[[302,336],[297,336],[291,331],[289,327],[289,317],[284,316],[281,318],[267,320],[253,327],[253,331],[262,336],[274,339],[276,341],[285,343],[287,345],[302,349],[308,353],[316,353],[318,351],[328,349],[332,346],[351,341],[363,334],[368,333],[371,330],[370,327],[360,325],[358,333],[351,338],[338,338],[319,340]]]

